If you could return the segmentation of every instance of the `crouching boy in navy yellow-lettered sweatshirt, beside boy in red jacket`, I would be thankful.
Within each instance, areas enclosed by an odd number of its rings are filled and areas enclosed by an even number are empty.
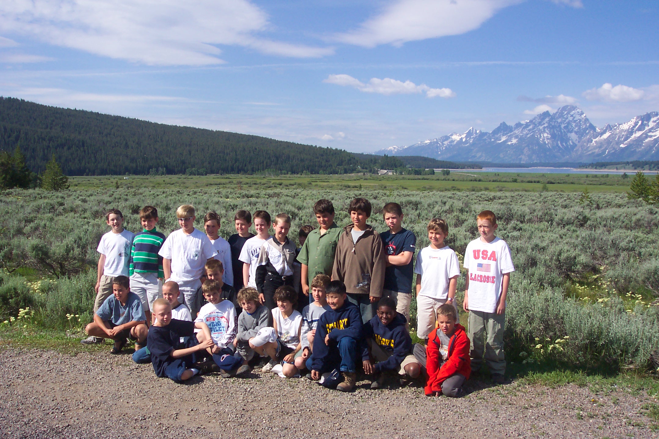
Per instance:
[[[372,389],[382,387],[387,373],[410,378],[420,374],[421,367],[411,353],[412,338],[406,324],[407,319],[396,312],[396,303],[391,297],[380,299],[377,315],[364,324],[362,364],[366,374],[375,375]],[[402,378],[401,384],[405,384]]]

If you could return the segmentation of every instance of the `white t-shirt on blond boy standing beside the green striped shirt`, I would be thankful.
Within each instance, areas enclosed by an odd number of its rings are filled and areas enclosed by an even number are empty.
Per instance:
[[[201,278],[206,260],[215,256],[215,249],[204,232],[194,229],[187,235],[179,228],[167,236],[158,254],[171,259],[170,280],[180,284]]]

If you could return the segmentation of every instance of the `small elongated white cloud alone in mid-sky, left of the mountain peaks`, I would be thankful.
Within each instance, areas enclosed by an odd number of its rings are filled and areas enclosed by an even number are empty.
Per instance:
[[[364,84],[357,78],[347,74],[331,74],[323,82],[336,84],[337,86],[349,86],[364,93],[380,93],[382,95],[426,93],[427,97],[455,97],[455,92],[450,88],[430,88],[426,84],[417,86],[411,81],[399,81],[391,78],[371,78],[368,84]]]

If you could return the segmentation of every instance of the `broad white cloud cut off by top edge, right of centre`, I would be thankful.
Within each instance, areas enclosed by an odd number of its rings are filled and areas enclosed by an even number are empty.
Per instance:
[[[337,41],[364,47],[460,35],[480,27],[497,11],[523,0],[394,0],[357,30]]]

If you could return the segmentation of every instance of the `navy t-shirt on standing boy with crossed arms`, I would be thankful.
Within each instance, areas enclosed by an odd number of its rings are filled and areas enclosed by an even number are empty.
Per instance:
[[[391,265],[384,271],[384,289],[399,293],[412,292],[412,278],[414,276],[414,251],[416,247],[416,236],[410,230],[401,229],[397,234],[389,230],[380,234],[384,253],[389,255],[400,255],[403,251],[411,251],[412,259],[407,265]]]

